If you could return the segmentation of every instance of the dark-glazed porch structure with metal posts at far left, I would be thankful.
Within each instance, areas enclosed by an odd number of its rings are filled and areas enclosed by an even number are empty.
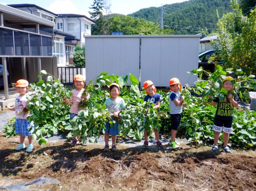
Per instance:
[[[8,86],[18,79],[37,82],[45,78],[37,77],[42,69],[58,75],[52,54],[53,27],[53,21],[0,4],[0,82],[5,99],[9,99]]]

